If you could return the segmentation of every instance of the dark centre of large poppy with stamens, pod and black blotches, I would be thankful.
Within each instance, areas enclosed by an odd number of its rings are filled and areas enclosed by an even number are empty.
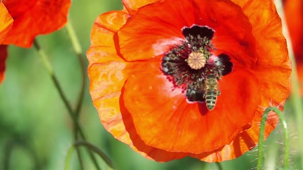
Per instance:
[[[188,101],[205,101],[206,79],[222,76],[232,71],[233,63],[226,54],[212,55],[214,30],[192,26],[182,29],[186,40],[175,45],[162,58],[162,71],[175,86],[186,91]]]

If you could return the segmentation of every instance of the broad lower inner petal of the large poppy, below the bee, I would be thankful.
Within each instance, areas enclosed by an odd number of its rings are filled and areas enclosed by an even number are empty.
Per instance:
[[[130,75],[124,86],[125,106],[147,145],[169,152],[203,153],[230,143],[250,128],[260,104],[254,75],[239,71],[224,76],[218,104],[207,112],[205,103],[188,103],[184,92],[174,89],[158,67],[159,63],[149,62],[148,71]]]

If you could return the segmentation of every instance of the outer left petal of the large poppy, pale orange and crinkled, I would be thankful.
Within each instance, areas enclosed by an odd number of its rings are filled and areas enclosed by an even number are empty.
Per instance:
[[[138,136],[132,117],[121,100],[121,91],[130,71],[146,68],[143,65],[144,68],[140,69],[136,63],[125,62],[117,55],[115,31],[126,19],[124,12],[113,11],[100,15],[94,22],[91,31],[92,46],[87,51],[93,104],[105,129],[144,157],[161,162],[185,157],[188,154],[169,153],[146,145]],[[111,25],[112,23],[115,24]]]

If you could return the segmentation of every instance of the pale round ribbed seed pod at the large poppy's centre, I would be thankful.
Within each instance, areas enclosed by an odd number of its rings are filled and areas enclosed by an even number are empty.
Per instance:
[[[187,64],[192,69],[199,70],[205,66],[206,57],[201,52],[192,52],[188,55]]]

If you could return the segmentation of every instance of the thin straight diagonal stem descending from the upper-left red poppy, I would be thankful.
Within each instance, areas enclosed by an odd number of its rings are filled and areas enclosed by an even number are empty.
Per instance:
[[[48,70],[49,75],[51,76],[52,81],[53,81],[56,89],[58,90],[58,92],[60,94],[60,97],[61,97],[61,99],[63,100],[63,102],[65,104],[65,107],[68,110],[68,114],[69,114],[69,116],[71,117],[71,119],[72,119],[72,121],[74,123],[75,131],[80,133],[80,136],[82,137],[83,140],[86,140],[86,137],[84,136],[84,133],[83,133],[83,131],[81,129],[81,126],[79,125],[78,118],[73,113],[71,105],[69,104],[67,98],[65,97],[65,95],[63,93],[63,90],[62,90],[62,88],[60,86],[60,83],[59,83],[58,79],[56,78],[56,76],[53,73],[53,69],[51,68],[50,62],[47,59],[47,55],[45,54],[44,50],[41,49],[41,47],[40,47],[40,45],[39,45],[39,43],[37,42],[36,39],[34,40],[33,45],[34,45],[35,49],[37,50],[37,53],[39,54],[39,56],[42,58],[43,64],[46,67],[46,69]],[[100,167],[99,167],[99,165],[97,163],[96,158],[94,158],[93,154],[90,151],[88,151],[88,152],[89,152],[90,158],[93,161],[93,163],[96,166],[96,168],[100,169]],[[81,157],[79,157],[79,158],[81,159]]]

